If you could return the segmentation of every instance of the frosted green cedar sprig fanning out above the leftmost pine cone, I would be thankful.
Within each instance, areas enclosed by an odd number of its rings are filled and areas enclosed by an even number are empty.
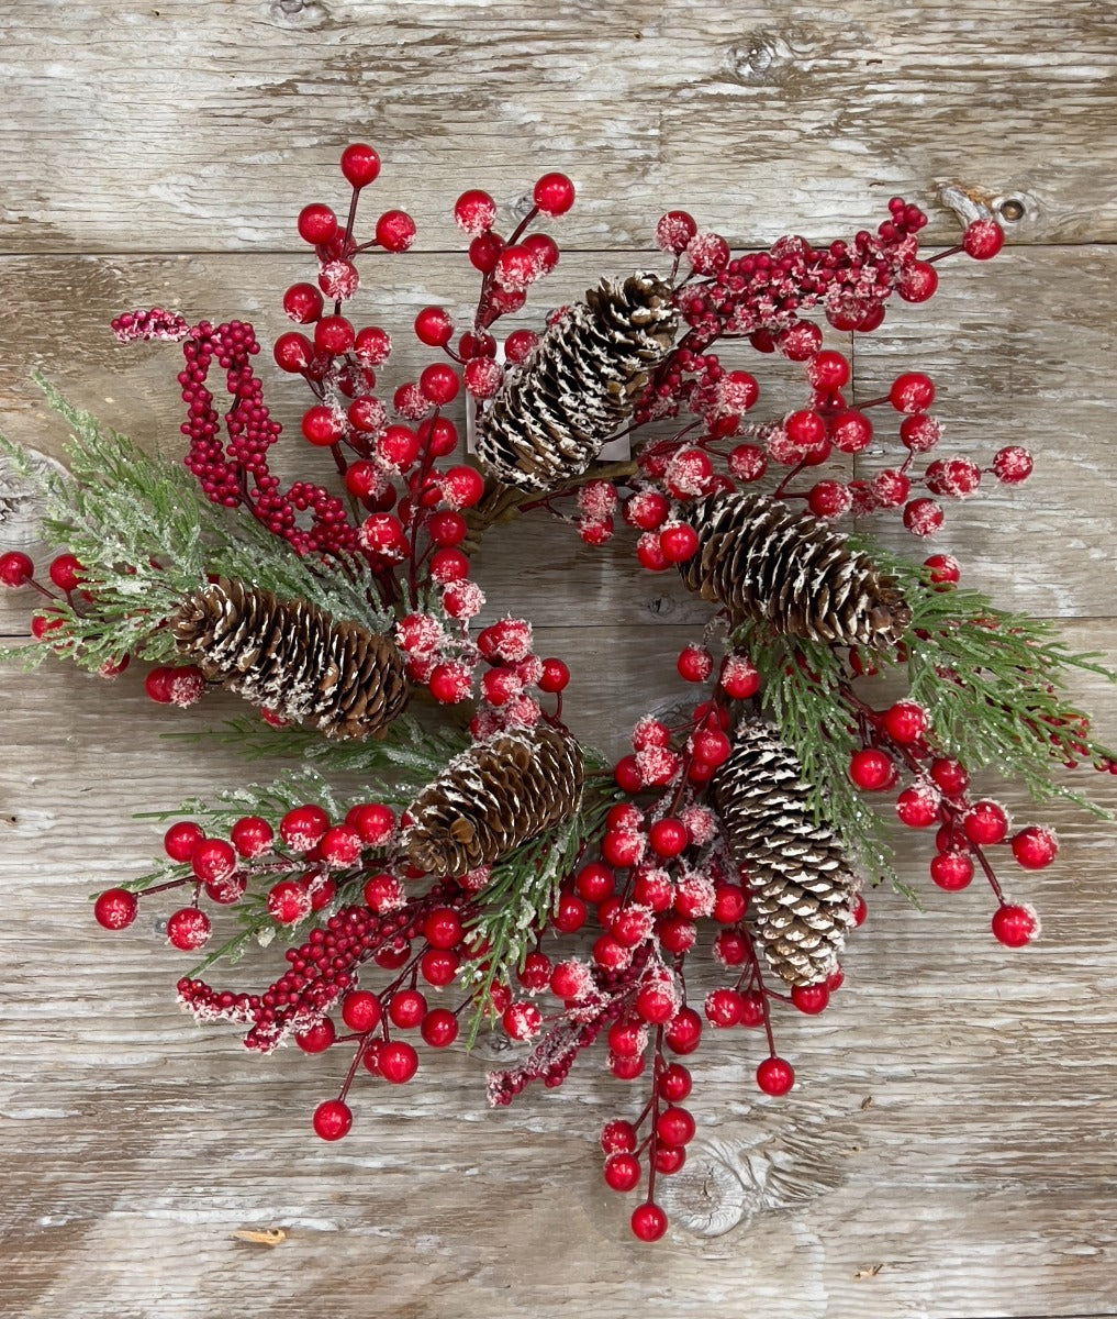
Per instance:
[[[358,565],[299,558],[244,510],[207,500],[184,467],[103,429],[40,384],[72,427],[68,475],[33,467],[9,441],[0,438],[0,446],[38,488],[46,537],[82,562],[92,603],[79,613],[59,601],[63,625],[17,654],[29,667],[71,640],[78,645],[65,653],[86,669],[124,654],[157,663],[174,658],[174,640],[161,624],[208,574],[252,582],[281,600],[308,600],[371,632],[390,628],[369,601]]]

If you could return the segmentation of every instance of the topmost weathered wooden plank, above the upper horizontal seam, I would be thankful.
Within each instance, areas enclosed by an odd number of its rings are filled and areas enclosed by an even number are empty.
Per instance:
[[[1013,12],[22,0],[3,20],[0,245],[291,247],[291,197],[337,194],[353,138],[385,154],[373,204],[412,210],[424,248],[447,245],[464,187],[507,207],[545,168],[582,185],[572,247],[647,244],[681,200],[747,243],[856,228],[867,198],[951,183],[1021,207],[1029,241],[1112,241],[1112,16]],[[946,207],[935,224],[954,232]]]

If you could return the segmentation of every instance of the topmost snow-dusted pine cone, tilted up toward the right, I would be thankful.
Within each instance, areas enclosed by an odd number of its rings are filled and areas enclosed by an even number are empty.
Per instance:
[[[526,491],[580,476],[670,351],[676,326],[670,289],[655,274],[602,280],[510,372],[481,422],[478,459]]]

